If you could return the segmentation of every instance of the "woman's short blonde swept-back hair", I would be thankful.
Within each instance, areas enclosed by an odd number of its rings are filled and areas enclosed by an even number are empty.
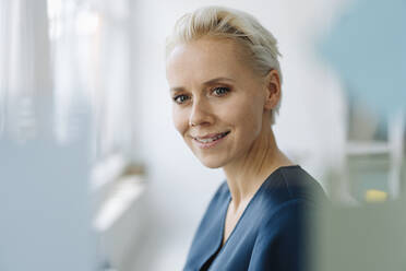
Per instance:
[[[231,38],[248,49],[252,67],[262,76],[276,70],[282,82],[278,61],[280,56],[277,40],[270,31],[263,27],[251,14],[224,8],[204,7],[181,16],[166,40],[166,57],[177,44],[189,43],[204,36]],[[280,97],[282,99],[282,97]],[[275,123],[275,114],[279,113],[280,99],[271,111],[271,125]]]

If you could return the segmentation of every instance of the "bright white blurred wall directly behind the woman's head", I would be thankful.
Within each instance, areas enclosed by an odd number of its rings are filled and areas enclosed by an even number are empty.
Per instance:
[[[171,123],[165,78],[165,37],[187,11],[206,4],[254,14],[278,38],[284,73],[280,116],[274,127],[279,146],[314,177],[336,163],[344,142],[344,97],[335,76],[315,57],[315,37],[327,31],[338,0],[138,1],[132,3],[133,101],[140,125],[138,155],[146,162],[156,226],[183,240],[192,234],[213,192],[224,180],[192,155]],[[339,152],[338,152],[339,153]],[[186,256],[183,256],[186,257]],[[179,259],[182,261],[183,259]]]

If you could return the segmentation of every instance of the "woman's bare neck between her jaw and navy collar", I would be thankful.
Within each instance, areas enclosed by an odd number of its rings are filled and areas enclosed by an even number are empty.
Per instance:
[[[231,207],[243,208],[265,179],[280,166],[292,163],[279,151],[268,123],[242,157],[223,167],[231,193]]]

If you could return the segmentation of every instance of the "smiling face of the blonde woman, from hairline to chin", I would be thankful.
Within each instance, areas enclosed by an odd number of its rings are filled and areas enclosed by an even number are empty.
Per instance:
[[[177,45],[167,58],[175,127],[211,168],[243,157],[270,114],[263,79],[241,56],[236,42],[204,37]]]

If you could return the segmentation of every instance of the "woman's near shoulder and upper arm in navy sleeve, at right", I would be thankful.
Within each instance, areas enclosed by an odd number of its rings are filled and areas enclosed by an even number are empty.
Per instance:
[[[283,167],[264,182],[259,226],[252,251],[252,270],[308,270],[312,223],[327,198],[319,182],[301,167]],[[250,269],[251,270],[251,269]]]

